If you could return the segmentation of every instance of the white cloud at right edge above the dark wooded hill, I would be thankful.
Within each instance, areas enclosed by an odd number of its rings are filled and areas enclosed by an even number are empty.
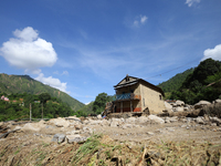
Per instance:
[[[214,49],[204,50],[203,54],[204,56],[202,58],[202,61],[209,58],[221,61],[221,44],[215,45]]]

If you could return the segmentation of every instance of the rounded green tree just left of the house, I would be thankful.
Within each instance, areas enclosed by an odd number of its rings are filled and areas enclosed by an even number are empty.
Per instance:
[[[105,104],[107,102],[112,102],[113,101],[113,97],[107,95],[106,93],[99,93],[96,98],[95,98],[95,102],[94,102],[94,105],[93,105],[93,112],[95,114],[101,114],[104,110],[105,110]]]

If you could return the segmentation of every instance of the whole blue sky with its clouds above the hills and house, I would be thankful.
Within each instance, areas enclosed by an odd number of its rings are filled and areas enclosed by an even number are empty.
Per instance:
[[[220,0],[4,0],[0,73],[60,89],[82,103],[129,74],[155,85],[221,61]]]

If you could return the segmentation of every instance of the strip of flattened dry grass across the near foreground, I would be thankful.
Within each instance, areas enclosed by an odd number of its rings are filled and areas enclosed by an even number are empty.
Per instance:
[[[0,165],[219,165],[221,145],[209,142],[116,142],[94,134],[84,144],[9,137],[0,142]]]

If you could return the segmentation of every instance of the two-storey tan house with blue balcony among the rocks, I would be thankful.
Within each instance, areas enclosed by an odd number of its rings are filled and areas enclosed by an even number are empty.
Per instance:
[[[143,79],[126,75],[117,85],[115,113],[147,112],[148,114],[162,113],[165,102],[162,90]]]

